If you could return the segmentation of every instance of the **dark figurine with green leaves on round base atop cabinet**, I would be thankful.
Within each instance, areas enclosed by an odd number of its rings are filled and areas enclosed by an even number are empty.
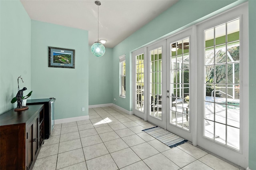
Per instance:
[[[23,91],[25,91],[27,88],[23,87],[23,89],[20,90],[19,87],[19,78],[22,80],[21,76],[18,77],[18,93],[16,95],[16,97],[14,97],[11,100],[11,103],[15,103],[17,101],[17,107],[14,109],[14,111],[20,111],[20,110],[25,110],[28,109],[28,106],[26,106],[26,100],[28,99],[28,97],[31,96],[32,91],[30,91],[28,93],[28,95],[23,96]],[[24,81],[22,80],[22,83],[24,83]]]

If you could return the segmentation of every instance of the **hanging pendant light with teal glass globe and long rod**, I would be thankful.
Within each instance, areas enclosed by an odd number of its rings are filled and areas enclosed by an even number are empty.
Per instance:
[[[102,55],[104,55],[106,51],[104,45],[101,42],[99,42],[99,6],[101,5],[101,2],[95,1],[95,4],[98,6],[98,41],[92,45],[91,51],[92,54],[96,57],[101,57]]]

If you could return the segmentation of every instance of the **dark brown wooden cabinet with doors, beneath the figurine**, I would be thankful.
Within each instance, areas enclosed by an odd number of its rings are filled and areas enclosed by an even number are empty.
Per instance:
[[[0,115],[0,169],[32,170],[44,143],[44,105]]]

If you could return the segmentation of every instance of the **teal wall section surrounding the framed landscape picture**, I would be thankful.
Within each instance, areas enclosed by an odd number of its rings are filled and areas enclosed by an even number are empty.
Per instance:
[[[48,46],[75,49],[75,69],[48,67]],[[32,20],[31,87],[56,98],[55,119],[88,115],[88,31]]]

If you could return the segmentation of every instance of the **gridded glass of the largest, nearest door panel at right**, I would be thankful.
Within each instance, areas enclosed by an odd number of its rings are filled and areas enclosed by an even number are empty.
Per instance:
[[[204,30],[204,136],[240,149],[239,18]]]

